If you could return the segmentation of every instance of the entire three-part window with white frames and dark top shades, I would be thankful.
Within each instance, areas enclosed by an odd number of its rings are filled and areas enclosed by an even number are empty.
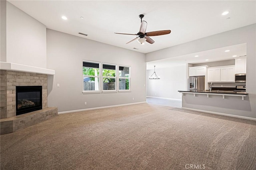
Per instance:
[[[83,93],[130,91],[131,67],[83,61]]]

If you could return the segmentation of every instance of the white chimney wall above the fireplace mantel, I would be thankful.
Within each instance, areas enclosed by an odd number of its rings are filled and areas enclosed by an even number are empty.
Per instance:
[[[9,2],[6,4],[6,55],[8,63],[46,68],[46,26]]]

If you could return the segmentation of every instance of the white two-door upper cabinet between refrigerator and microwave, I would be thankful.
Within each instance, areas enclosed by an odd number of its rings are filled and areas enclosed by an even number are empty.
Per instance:
[[[235,67],[221,66],[208,68],[208,83],[211,82],[235,82]]]

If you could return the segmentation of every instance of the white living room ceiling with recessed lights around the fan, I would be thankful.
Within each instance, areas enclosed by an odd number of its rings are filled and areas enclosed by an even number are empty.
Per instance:
[[[110,45],[149,53],[256,23],[256,1],[51,1],[8,0],[47,28]],[[222,16],[222,12],[229,14]],[[136,36],[139,14],[148,23],[146,32],[172,30],[151,37],[155,43],[141,45]],[[68,20],[61,17],[66,16]],[[84,17],[81,19],[80,17]],[[230,18],[230,19],[226,19]],[[88,36],[78,34],[82,32]],[[138,48],[138,50],[133,48]],[[186,57],[185,57],[186,58]]]

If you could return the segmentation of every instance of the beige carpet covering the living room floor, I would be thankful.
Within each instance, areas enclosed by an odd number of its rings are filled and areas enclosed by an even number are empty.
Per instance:
[[[62,114],[0,140],[1,170],[256,169],[256,121],[147,103]]]

